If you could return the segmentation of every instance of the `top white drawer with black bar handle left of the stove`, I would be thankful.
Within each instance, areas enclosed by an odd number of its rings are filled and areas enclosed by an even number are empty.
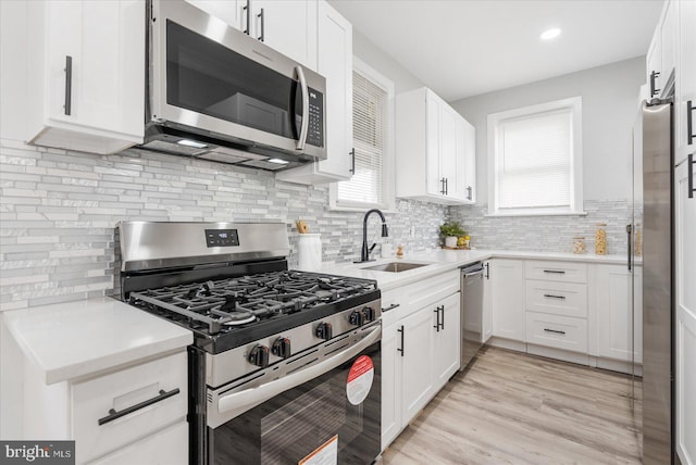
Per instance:
[[[182,351],[74,384],[73,437],[77,444],[77,463],[104,455],[153,431],[183,422],[187,412],[186,379],[186,351]],[[172,394],[165,397],[166,393]],[[111,410],[122,412],[134,406],[140,407],[104,423],[113,417]]]

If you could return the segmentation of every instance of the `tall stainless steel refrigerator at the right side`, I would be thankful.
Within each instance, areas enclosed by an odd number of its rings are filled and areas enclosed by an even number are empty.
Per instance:
[[[672,104],[643,102],[639,125],[634,135],[633,219],[626,230],[631,235],[630,263],[642,260],[643,268],[643,462],[671,464],[674,451]]]

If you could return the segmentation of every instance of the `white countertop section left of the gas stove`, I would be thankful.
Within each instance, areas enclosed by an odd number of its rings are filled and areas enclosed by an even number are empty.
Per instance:
[[[47,385],[76,379],[194,342],[188,329],[112,298],[2,312]]]

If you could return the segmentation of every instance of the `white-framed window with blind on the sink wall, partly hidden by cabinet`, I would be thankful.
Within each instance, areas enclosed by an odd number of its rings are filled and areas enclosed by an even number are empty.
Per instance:
[[[394,84],[353,59],[352,140],[355,174],[350,180],[334,183],[333,208],[388,208],[394,203],[390,173]]]

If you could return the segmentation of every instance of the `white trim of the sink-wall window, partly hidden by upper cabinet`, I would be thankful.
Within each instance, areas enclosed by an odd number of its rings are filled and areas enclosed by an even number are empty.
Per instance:
[[[372,66],[363,62],[357,56],[352,58],[352,68],[370,79],[376,86],[381,87],[387,95],[387,130],[384,148],[384,165],[383,165],[383,203],[344,203],[338,204],[338,184],[332,183],[328,188],[328,206],[330,210],[339,212],[364,212],[365,209],[382,209],[385,213],[396,212],[396,183],[394,179],[394,147],[395,147],[395,91],[394,81]],[[352,122],[352,118],[351,118]],[[352,124],[352,123],[351,123]]]

